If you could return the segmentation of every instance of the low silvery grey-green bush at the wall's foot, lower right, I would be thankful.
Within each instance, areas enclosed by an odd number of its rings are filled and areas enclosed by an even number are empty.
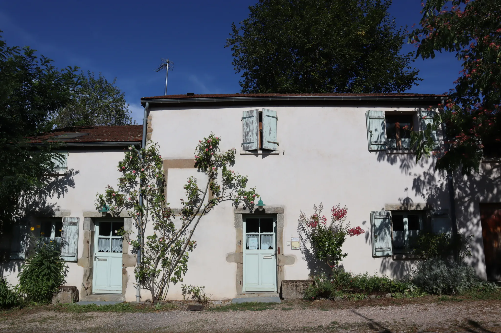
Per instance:
[[[419,261],[410,281],[430,294],[454,295],[480,285],[472,267],[454,261],[431,258]]]

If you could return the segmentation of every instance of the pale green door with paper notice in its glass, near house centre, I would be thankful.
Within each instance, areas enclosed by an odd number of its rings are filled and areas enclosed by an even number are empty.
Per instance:
[[[277,292],[277,218],[243,220],[243,292]]]

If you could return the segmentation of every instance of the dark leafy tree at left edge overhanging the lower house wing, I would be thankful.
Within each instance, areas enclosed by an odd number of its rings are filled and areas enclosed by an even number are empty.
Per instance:
[[[27,137],[52,129],[50,118],[71,100],[77,68],[59,70],[51,62],[0,36],[0,232],[22,215],[20,198],[52,180],[58,145],[33,147]]]

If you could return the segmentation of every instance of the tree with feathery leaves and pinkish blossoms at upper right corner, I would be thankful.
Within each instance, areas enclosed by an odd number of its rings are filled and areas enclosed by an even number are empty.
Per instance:
[[[427,0],[420,28],[409,35],[417,56],[434,58],[435,51],[456,52],[462,61],[440,113],[424,131],[413,133],[416,161],[430,156],[431,133],[445,127],[446,152],[439,170],[478,172],[484,155],[501,157],[501,4],[499,0]]]

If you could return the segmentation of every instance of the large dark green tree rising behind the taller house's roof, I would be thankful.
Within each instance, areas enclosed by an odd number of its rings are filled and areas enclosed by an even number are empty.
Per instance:
[[[412,87],[391,0],[259,0],[226,39],[242,92],[379,93]]]

